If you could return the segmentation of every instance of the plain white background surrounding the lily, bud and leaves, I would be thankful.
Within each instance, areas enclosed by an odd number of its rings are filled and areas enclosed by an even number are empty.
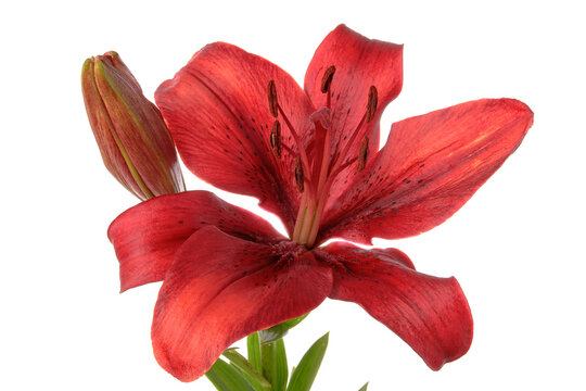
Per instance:
[[[84,60],[117,50],[152,98],[193,52],[224,40],[302,83],[321,39],[346,23],[405,43],[403,93],[383,129],[485,97],[526,102],[535,125],[447,223],[377,243],[402,249],[421,272],[458,278],[475,320],[464,357],[434,373],[358,306],[328,300],[285,339],[291,364],[329,330],[315,390],[352,391],[366,380],[379,391],[584,390],[586,29],[578,4],[1,5],[0,389],[213,389],[206,379],[181,383],[156,364],[150,324],[160,285],[118,294],[105,231],[137,200],[101,162],[81,100]],[[190,189],[209,188],[184,176]],[[258,211],[254,200],[225,197]]]

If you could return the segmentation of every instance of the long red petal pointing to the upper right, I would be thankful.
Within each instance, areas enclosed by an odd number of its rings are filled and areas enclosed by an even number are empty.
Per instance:
[[[326,210],[321,237],[370,243],[443,223],[514,152],[533,124],[513,99],[483,99],[404,119]]]

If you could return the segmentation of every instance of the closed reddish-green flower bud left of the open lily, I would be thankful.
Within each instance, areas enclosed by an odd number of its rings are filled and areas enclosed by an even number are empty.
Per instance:
[[[169,130],[116,52],[86,60],[81,90],[104,164],[128,191],[141,200],[184,191]]]

